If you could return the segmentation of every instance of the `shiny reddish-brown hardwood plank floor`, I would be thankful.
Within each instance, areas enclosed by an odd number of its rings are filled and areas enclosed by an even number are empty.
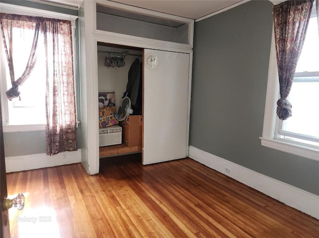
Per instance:
[[[11,238],[318,238],[319,221],[192,159],[143,166],[141,155],[7,174]]]

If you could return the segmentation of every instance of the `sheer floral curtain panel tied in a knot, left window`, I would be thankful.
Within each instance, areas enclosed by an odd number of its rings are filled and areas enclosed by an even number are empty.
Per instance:
[[[6,14],[0,13],[0,24],[1,33],[3,38],[3,44],[6,54],[6,59],[8,62],[9,74],[11,79],[11,88],[6,91],[7,98],[12,100],[13,98],[19,97],[19,86],[29,77],[32,69],[34,68],[36,57],[35,51],[37,47],[37,42],[39,38],[40,21],[36,20],[36,17],[32,16],[22,16],[16,14]],[[29,34],[29,32],[34,32],[32,45],[26,45],[26,52],[30,52],[28,60],[25,65],[25,70],[21,76],[15,80],[14,71],[14,59],[13,59],[13,32],[12,29],[19,30],[21,35]]]

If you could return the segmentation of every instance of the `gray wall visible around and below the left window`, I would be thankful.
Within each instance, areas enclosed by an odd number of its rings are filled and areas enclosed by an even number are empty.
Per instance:
[[[60,13],[78,15],[77,10],[67,9],[57,6],[46,5],[37,2],[31,2],[26,0],[0,0],[0,2],[10,3],[21,6],[28,6],[37,9],[56,11]],[[76,22],[77,24],[77,22]],[[80,120],[80,80],[79,80],[79,51],[78,51],[78,27],[76,28],[76,89],[77,89],[77,111],[78,111],[78,120]],[[80,139],[80,126],[77,129],[77,143],[78,148],[81,148]],[[4,153],[6,157],[9,156],[23,156],[23,155],[32,155],[45,153],[45,132],[44,131],[34,131],[34,132],[14,132],[14,133],[4,133]]]

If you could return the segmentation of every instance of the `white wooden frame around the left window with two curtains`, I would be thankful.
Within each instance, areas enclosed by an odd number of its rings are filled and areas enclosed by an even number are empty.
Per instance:
[[[20,15],[32,15],[32,16],[42,16],[42,17],[48,17],[48,18],[56,18],[61,20],[70,20],[72,22],[72,42],[73,42],[73,69],[74,69],[74,90],[75,90],[75,97],[76,97],[76,37],[75,37],[75,28],[76,24],[75,21],[78,18],[76,15],[69,15],[65,13],[59,13],[54,11],[48,11],[48,10],[42,10],[32,7],[26,7],[26,6],[19,6],[9,3],[2,3],[0,2],[0,12],[3,13],[11,13],[11,14],[20,14]],[[3,41],[2,36],[0,36],[0,49],[3,49]],[[1,54],[0,57],[0,90],[1,90],[1,110],[2,110],[2,128],[3,132],[27,132],[27,131],[44,131],[45,130],[45,124],[25,124],[25,125],[9,125],[6,124],[6,118],[8,118],[9,115],[9,108],[8,103],[6,102],[7,98],[5,97],[5,93],[3,93],[5,90],[3,88],[6,88],[6,72],[5,72],[5,65],[6,64],[6,57],[4,54]],[[77,102],[75,102],[77,105]],[[77,106],[76,106],[77,108]],[[77,115],[77,111],[76,111]],[[79,122],[77,121],[77,127]]]

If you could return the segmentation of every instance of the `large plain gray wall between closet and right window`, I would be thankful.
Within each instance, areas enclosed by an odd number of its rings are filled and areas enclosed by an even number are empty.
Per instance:
[[[195,23],[190,145],[319,195],[319,161],[261,146],[272,3]]]

